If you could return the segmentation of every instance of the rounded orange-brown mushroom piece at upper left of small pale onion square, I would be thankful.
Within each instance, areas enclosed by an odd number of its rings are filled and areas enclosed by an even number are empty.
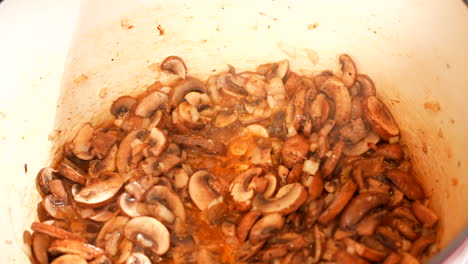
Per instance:
[[[296,163],[307,159],[309,141],[300,135],[290,137],[281,149],[281,158],[286,167],[292,168]]]

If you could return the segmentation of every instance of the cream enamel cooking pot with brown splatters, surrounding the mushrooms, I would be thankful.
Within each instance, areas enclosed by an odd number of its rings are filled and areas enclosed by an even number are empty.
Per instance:
[[[27,1],[0,4],[0,251],[27,263],[37,171],[85,121],[182,57],[189,73],[289,59],[293,71],[339,71],[350,54],[401,129],[440,216],[435,263],[467,261],[468,9],[461,0]],[[26,254],[25,254],[26,253]],[[466,263],[466,262],[465,262]]]

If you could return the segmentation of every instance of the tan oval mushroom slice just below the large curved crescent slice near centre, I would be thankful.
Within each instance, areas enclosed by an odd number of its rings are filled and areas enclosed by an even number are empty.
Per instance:
[[[279,213],[268,214],[260,218],[250,230],[250,242],[255,245],[276,235],[283,228],[284,220]]]

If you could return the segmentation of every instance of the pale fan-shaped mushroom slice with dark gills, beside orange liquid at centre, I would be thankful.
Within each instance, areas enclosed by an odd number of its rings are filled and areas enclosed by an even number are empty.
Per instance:
[[[201,211],[205,211],[208,205],[221,195],[222,190],[221,182],[206,170],[199,170],[190,177],[189,195]]]

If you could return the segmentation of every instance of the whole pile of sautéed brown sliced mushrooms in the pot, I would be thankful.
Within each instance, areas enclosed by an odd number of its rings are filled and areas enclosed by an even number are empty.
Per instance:
[[[35,263],[419,263],[438,216],[350,56],[283,60],[117,98],[36,178]]]

